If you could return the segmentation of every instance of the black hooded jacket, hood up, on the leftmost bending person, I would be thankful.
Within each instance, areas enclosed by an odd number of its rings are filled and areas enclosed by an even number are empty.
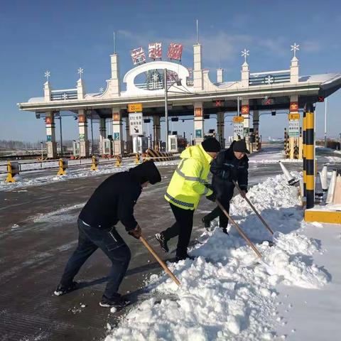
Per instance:
[[[98,229],[109,229],[119,221],[127,231],[135,229],[134,205],[141,195],[141,184],[146,181],[151,184],[161,181],[153,161],[109,176],[94,190],[80,212],[80,220]]]

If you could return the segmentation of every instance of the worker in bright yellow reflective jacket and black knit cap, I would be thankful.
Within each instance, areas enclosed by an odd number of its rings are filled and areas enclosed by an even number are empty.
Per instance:
[[[201,195],[215,201],[215,193],[207,187],[207,175],[210,172],[210,163],[219,151],[220,143],[210,137],[202,141],[202,144],[185,149],[180,155],[182,160],[165,195],[175,216],[175,223],[155,236],[165,252],[169,251],[168,240],[179,236],[175,261],[191,258],[187,248],[193,228],[193,213]]]

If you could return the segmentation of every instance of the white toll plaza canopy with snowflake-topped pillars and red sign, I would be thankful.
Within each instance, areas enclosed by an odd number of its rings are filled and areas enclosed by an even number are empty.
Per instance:
[[[85,92],[82,69],[79,69],[80,79],[76,87],[53,90],[47,80],[43,97],[18,103],[21,110],[35,112],[38,119],[45,118],[48,157],[56,156],[55,117],[61,119],[72,114],[78,118],[81,156],[85,157],[89,155],[87,125],[90,118],[99,120],[101,146],[107,139],[106,119],[111,119],[115,153],[129,151],[132,137],[127,109],[129,104],[136,103],[141,104],[144,117],[153,119],[154,143],[161,140],[160,119],[167,109],[171,117],[193,118],[194,143],[200,143],[205,136],[207,115],[217,115],[217,136],[224,144],[224,114],[239,112],[244,119],[242,137],[249,144],[251,139],[257,139],[260,111],[286,109],[288,113],[298,113],[306,104],[323,102],[325,97],[341,87],[341,73],[299,75],[296,44],[292,46],[293,58],[287,70],[250,72],[247,63],[249,51],[244,50],[241,78],[232,82],[224,81],[222,68],[217,69],[215,82],[211,80],[209,71],[202,67],[202,45],[199,43],[193,45],[193,70],[180,64],[180,44],[173,44],[172,48],[176,55],[170,55],[168,49],[167,61],[156,60],[154,54],[149,63],[146,63],[142,48],[131,51],[136,66],[126,72],[123,80],[119,75],[119,57],[114,53],[110,56],[111,77],[107,80],[106,89],[98,93]],[[157,53],[160,57],[160,50]],[[45,73],[45,77],[49,77],[49,72]],[[121,83],[125,89],[121,89]],[[249,125],[251,112],[253,129]]]

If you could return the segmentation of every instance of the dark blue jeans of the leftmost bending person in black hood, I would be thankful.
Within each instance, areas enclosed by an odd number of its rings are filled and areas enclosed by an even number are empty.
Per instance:
[[[112,261],[112,269],[109,273],[109,281],[104,296],[109,299],[115,298],[131,259],[129,247],[115,227],[109,230],[97,229],[85,224],[80,219],[78,219],[77,224],[79,231],[77,249],[67,261],[60,284],[63,286],[70,285],[81,266],[99,248]]]

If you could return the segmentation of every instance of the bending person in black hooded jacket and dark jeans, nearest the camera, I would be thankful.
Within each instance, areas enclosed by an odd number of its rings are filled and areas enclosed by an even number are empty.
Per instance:
[[[73,278],[82,264],[99,248],[112,261],[109,281],[99,305],[122,308],[128,303],[117,291],[126,274],[131,253],[115,225],[120,221],[129,234],[139,239],[141,227],[134,218],[134,205],[142,188],[148,183],[153,185],[160,181],[158,168],[153,161],[146,161],[129,171],[109,176],[99,185],[80,212],[77,249],[67,261],[55,295],[60,296],[77,288]]]

